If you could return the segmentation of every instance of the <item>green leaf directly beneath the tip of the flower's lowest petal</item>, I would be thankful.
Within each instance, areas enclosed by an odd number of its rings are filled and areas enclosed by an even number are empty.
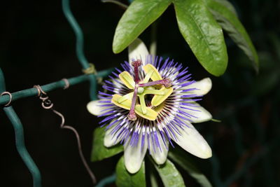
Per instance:
[[[116,167],[116,184],[120,187],[146,187],[145,179],[145,162],[142,162],[142,166],[136,174],[130,174],[125,169],[125,159],[122,157],[118,161]]]

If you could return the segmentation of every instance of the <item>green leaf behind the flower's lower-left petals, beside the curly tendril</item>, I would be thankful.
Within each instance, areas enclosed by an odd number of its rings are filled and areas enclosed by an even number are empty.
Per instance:
[[[118,144],[107,148],[104,146],[104,135],[106,127],[97,127],[93,133],[93,144],[92,144],[92,162],[109,158],[120,152],[123,152],[123,145]]]

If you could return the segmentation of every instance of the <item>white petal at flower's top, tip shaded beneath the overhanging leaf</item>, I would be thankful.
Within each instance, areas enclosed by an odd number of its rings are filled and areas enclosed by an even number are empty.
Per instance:
[[[135,39],[130,46],[128,46],[128,60],[131,64],[132,60],[141,60],[148,56],[148,49],[141,39]]]

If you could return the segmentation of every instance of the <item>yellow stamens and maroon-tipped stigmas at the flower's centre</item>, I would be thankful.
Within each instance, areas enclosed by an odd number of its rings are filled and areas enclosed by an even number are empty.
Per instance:
[[[162,108],[160,104],[173,92],[172,82],[167,78],[162,79],[160,73],[152,64],[144,66],[146,76],[144,80],[140,81],[139,67],[141,64],[141,60],[132,62],[134,78],[127,71],[119,74],[120,80],[133,91],[123,96],[113,95],[111,102],[123,109],[130,110],[127,115],[130,120],[137,120],[137,115],[148,120],[155,120],[160,108]],[[139,101],[137,97],[139,97]],[[159,106],[159,109],[157,109],[157,106]]]

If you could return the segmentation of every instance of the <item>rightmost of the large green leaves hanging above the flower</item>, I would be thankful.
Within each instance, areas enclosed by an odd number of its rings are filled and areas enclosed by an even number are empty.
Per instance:
[[[207,0],[207,5],[221,27],[228,32],[230,38],[237,43],[237,46],[239,46],[241,50],[244,51],[248,58],[253,62],[255,70],[258,71],[258,54],[255,51],[255,47],[253,46],[246,29],[238,20],[237,16],[232,13],[228,7],[217,1]]]

